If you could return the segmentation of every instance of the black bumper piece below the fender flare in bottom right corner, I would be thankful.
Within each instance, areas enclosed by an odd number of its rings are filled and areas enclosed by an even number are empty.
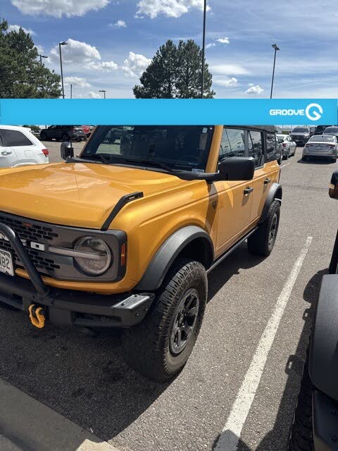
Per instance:
[[[338,450],[338,403],[315,391],[313,406],[313,442],[315,451]]]

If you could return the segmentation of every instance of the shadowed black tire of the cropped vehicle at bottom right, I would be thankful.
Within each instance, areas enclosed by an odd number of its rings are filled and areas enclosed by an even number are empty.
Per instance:
[[[314,451],[312,428],[313,383],[308,374],[308,354],[301,378],[294,422],[291,426],[287,451]]]

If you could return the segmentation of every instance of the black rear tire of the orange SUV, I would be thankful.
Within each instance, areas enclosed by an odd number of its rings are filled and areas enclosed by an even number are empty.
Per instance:
[[[277,222],[275,222],[277,221]],[[270,205],[268,216],[263,223],[259,224],[258,229],[248,238],[248,250],[251,254],[263,255],[268,257],[273,250],[275,240],[280,224],[280,202],[274,200]],[[275,227],[275,234],[271,240],[270,232]]]

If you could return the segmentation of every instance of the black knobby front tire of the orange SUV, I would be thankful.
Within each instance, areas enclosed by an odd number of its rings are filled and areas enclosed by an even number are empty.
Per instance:
[[[199,310],[193,332],[180,354],[170,350],[175,309],[184,294],[196,288]],[[156,382],[165,382],[179,373],[192,353],[206,309],[208,280],[206,269],[198,261],[177,260],[165,277],[144,321],[127,329],[122,347],[127,363],[139,373]]]

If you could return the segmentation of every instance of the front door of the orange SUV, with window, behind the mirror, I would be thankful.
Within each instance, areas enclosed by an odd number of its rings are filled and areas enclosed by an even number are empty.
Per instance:
[[[219,161],[229,156],[246,156],[246,131],[225,127]],[[221,254],[244,235],[249,226],[252,204],[251,182],[215,182],[218,192],[218,229],[216,255]]]

